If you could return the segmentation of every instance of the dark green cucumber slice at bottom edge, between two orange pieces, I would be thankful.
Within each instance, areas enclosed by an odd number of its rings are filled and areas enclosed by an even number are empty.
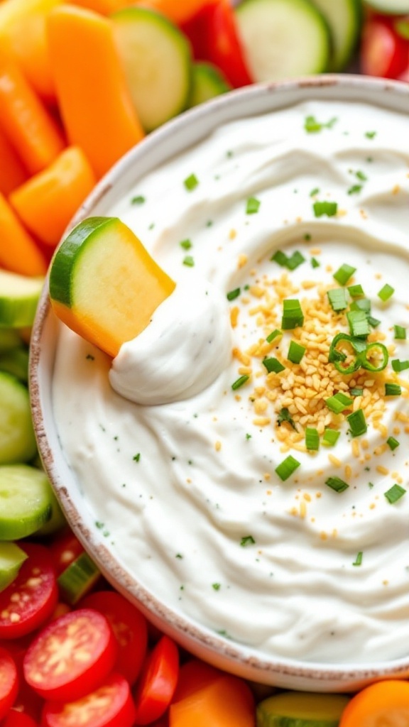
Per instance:
[[[338,727],[349,697],[286,691],[263,699],[257,727]]]

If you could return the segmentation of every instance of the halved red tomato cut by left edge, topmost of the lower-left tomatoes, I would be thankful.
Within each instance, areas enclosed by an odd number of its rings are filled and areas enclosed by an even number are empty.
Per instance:
[[[57,603],[51,555],[44,545],[20,543],[28,558],[15,580],[0,593],[0,638],[17,638],[38,628]]]

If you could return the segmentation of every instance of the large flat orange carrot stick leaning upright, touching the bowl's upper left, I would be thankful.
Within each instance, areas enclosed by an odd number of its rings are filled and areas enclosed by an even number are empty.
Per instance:
[[[84,150],[101,177],[143,137],[111,22],[91,10],[60,5],[49,13],[47,27],[57,99],[68,138]]]

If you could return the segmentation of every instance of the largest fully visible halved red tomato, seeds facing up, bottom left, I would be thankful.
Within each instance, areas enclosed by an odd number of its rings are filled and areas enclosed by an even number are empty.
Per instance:
[[[24,657],[25,680],[44,699],[81,699],[111,672],[116,650],[108,619],[91,608],[79,608],[50,622],[36,636]]]

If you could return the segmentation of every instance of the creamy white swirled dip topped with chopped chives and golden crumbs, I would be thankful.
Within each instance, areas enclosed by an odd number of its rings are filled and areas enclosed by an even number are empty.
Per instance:
[[[325,100],[221,126],[109,211],[178,294],[114,361],[60,328],[55,420],[95,528],[261,655],[408,654],[407,129]]]

